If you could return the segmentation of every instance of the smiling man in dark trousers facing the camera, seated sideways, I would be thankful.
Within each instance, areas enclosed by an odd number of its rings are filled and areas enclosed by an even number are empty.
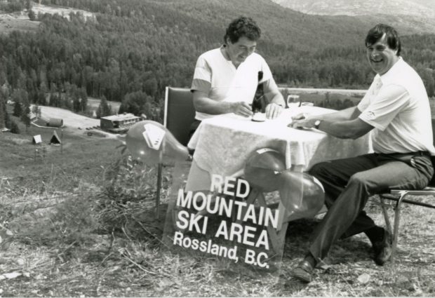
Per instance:
[[[309,173],[326,193],[328,213],[316,227],[307,255],[293,270],[304,282],[339,238],[364,232],[373,259],[391,255],[391,236],[363,211],[369,196],[389,189],[422,189],[431,179],[435,154],[429,100],[420,76],[400,56],[396,30],[376,25],[366,36],[367,59],[376,72],[357,107],[321,116],[295,117],[293,128],[317,128],[341,138],[372,132],[373,154],[318,163]]]

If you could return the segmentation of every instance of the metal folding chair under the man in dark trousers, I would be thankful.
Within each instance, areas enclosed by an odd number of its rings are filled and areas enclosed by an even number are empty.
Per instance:
[[[435,118],[432,118],[432,130],[434,133],[434,141],[435,141]],[[432,164],[435,165],[435,156],[431,156]],[[413,196],[412,198],[408,198],[408,196]],[[432,196],[434,198],[434,203],[424,203],[419,201],[419,197],[421,196]],[[418,205],[422,207],[427,207],[431,209],[435,209],[435,175],[432,177],[432,180],[429,182],[428,187],[422,190],[414,191],[414,190],[401,190],[401,189],[391,189],[389,194],[380,194],[380,203],[382,206],[382,212],[384,214],[385,224],[387,225],[387,229],[391,233],[391,224],[389,222],[389,218],[387,215],[387,210],[385,209],[384,200],[396,201],[394,205],[394,230],[392,231],[393,235],[393,243],[391,249],[391,264],[395,265],[394,258],[396,257],[396,248],[397,248],[397,240],[399,238],[399,222],[400,222],[400,211],[402,203],[408,203],[411,205]]]

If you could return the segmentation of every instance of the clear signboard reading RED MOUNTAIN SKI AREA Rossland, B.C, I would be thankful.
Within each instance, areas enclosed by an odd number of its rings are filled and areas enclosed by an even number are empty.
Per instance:
[[[270,234],[279,228],[279,210],[259,205],[253,196],[262,194],[246,180],[211,175],[210,189],[185,191],[182,175],[175,172],[173,177],[180,181],[170,189],[163,233],[166,248],[215,258],[232,271],[279,276],[283,244],[277,247]]]

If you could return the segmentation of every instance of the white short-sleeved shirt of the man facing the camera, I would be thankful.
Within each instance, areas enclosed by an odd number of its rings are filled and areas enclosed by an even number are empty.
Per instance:
[[[375,76],[358,109],[359,118],[375,127],[375,152],[429,151],[435,155],[426,89],[417,72],[401,57],[388,72]]]

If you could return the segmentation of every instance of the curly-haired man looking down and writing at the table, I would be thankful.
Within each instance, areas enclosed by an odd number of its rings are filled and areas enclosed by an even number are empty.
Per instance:
[[[191,88],[196,109],[191,135],[203,119],[214,115],[251,116],[250,104],[257,89],[258,72],[263,72],[260,83],[269,100],[267,118],[276,118],[281,113],[283,97],[266,61],[255,53],[260,35],[261,30],[254,20],[237,18],[229,24],[224,44],[199,56]]]

